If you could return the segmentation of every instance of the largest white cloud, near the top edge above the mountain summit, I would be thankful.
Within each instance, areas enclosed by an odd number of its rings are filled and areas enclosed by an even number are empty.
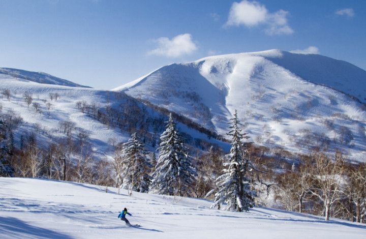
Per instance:
[[[247,27],[264,25],[264,32],[268,35],[289,35],[293,33],[293,29],[288,25],[288,14],[289,12],[282,9],[270,13],[264,5],[258,2],[243,0],[240,3],[232,4],[225,25],[245,25]]]

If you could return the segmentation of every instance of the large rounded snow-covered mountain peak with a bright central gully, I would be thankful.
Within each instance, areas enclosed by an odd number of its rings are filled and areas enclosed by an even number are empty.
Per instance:
[[[224,135],[235,109],[260,145],[365,157],[366,71],[326,56],[281,50],[172,64],[113,89]]]

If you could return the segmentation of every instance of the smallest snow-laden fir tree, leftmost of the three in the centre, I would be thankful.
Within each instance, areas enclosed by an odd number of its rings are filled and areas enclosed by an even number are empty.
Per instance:
[[[153,167],[146,157],[147,152],[144,144],[136,133],[122,145],[122,169],[121,187],[137,192],[147,193],[151,176],[149,173]]]

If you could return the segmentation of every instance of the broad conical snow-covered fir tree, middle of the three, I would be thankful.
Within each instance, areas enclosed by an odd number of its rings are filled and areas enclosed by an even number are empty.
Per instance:
[[[159,194],[183,196],[195,181],[196,170],[188,148],[183,144],[172,114],[160,136],[159,158],[153,173],[152,188]]]

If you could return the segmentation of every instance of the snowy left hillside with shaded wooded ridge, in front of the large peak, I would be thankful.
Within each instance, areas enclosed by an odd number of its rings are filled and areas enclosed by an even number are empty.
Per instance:
[[[9,91],[9,97],[5,91]],[[31,104],[25,102],[24,93],[32,96]],[[51,95],[55,94],[58,95],[57,100],[55,97],[51,99]],[[89,134],[88,150],[97,159],[113,156],[112,144],[126,142],[136,131],[144,138],[149,149],[155,150],[167,120],[166,114],[143,105],[125,93],[38,83],[9,74],[0,74],[1,112],[10,112],[23,119],[15,132],[17,145],[21,138],[33,134],[39,146],[46,148],[50,143],[66,137],[60,130],[60,123],[71,122],[75,134],[79,129]],[[228,147],[227,143],[211,138],[187,124],[179,123],[178,127],[191,145],[208,142]]]

